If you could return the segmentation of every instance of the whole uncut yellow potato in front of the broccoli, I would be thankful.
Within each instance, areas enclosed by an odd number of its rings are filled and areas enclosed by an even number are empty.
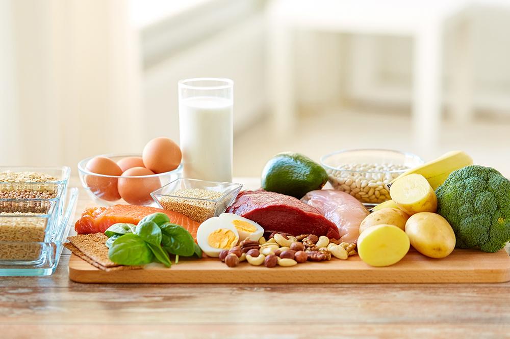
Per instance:
[[[421,212],[412,215],[405,223],[405,234],[411,245],[422,255],[444,258],[455,248],[455,233],[441,215]]]

